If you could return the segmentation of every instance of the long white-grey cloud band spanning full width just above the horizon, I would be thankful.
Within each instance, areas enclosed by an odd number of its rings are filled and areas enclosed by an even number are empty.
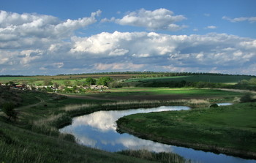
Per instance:
[[[72,37],[47,49],[2,50],[1,64],[45,72],[108,71],[223,72],[250,67],[256,40],[229,34],[169,35],[155,32],[102,32]],[[3,55],[4,54],[4,55]],[[12,66],[13,67],[13,66]],[[7,71],[8,67],[1,67]],[[241,71],[241,70],[240,70]],[[239,72],[239,71],[238,71]]]

